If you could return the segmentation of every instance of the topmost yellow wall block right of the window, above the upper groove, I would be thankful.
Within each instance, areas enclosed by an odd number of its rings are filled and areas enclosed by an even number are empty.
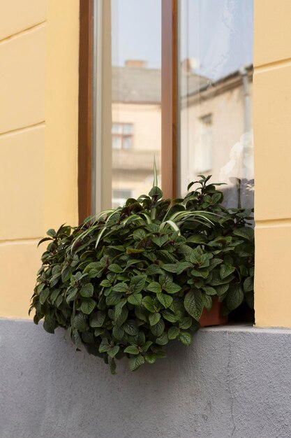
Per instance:
[[[254,0],[254,65],[290,59],[291,1]]]

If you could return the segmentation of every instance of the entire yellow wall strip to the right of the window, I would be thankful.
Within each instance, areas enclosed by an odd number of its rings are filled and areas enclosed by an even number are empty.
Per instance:
[[[291,1],[255,0],[255,323],[291,327]]]

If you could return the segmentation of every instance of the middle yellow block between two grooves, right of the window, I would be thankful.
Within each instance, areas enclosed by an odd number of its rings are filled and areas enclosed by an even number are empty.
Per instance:
[[[255,71],[256,220],[291,218],[290,80],[291,62]]]

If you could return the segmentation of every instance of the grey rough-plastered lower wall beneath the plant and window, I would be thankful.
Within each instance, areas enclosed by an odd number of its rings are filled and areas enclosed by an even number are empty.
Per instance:
[[[200,330],[111,376],[66,333],[0,320],[1,438],[290,438],[291,331]]]

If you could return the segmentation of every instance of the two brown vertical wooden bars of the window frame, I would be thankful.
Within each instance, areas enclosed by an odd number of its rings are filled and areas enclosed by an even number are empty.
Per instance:
[[[162,190],[177,197],[178,1],[162,0]],[[91,215],[94,0],[80,0],[78,209],[79,221]]]

